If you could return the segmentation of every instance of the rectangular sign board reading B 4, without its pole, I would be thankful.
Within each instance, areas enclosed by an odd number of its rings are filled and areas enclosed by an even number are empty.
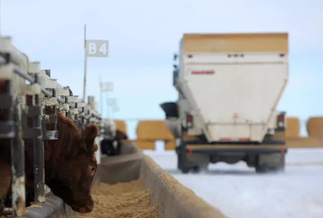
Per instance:
[[[86,57],[107,57],[109,41],[86,40]]]

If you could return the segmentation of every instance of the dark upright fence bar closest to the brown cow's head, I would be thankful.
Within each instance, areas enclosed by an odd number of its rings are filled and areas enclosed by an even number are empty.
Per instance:
[[[45,202],[45,173],[44,173],[44,144],[41,132],[41,107],[39,104],[39,95],[35,94],[35,105],[38,107],[39,116],[33,116],[34,135],[34,188],[35,202]]]

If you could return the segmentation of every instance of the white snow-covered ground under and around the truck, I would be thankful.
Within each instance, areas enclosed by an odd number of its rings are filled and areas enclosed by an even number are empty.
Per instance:
[[[230,218],[323,218],[323,149],[289,149],[286,172],[266,175],[244,162],[184,175],[175,151],[145,154]]]

